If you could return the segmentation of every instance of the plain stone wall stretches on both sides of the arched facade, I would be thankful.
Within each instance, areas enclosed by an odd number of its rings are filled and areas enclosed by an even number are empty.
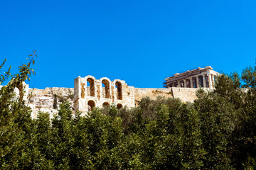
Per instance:
[[[193,102],[196,99],[196,90],[194,88],[178,88],[169,89],[154,89],[154,88],[134,88],[135,106],[141,101],[141,98],[149,96],[156,99],[157,96],[164,98],[180,98],[183,102]],[[103,93],[105,88],[102,88]],[[56,95],[56,97],[55,97]],[[50,113],[50,118],[53,118],[55,113],[58,113],[59,104],[63,99],[70,101],[74,108],[74,89],[73,88],[46,88],[46,89],[29,89],[28,106],[32,109],[32,118],[36,118],[38,111]],[[53,108],[54,98],[57,100],[57,108]]]

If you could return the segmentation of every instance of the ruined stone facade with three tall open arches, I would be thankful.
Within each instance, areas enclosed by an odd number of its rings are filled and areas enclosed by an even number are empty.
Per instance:
[[[83,114],[94,107],[102,108],[114,103],[117,108],[124,106],[134,107],[134,87],[128,86],[125,81],[107,77],[78,77],[75,79],[74,107],[75,111]]]

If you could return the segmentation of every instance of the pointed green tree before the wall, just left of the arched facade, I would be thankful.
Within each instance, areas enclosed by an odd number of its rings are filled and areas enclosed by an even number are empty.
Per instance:
[[[60,104],[58,115],[50,127],[50,157],[55,169],[90,169],[91,157],[88,150],[89,140],[81,129],[80,115],[73,115],[70,103]]]

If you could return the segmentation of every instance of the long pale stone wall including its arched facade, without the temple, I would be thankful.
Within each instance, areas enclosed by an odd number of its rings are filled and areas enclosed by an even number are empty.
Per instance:
[[[90,86],[87,86],[87,82]],[[1,89],[1,86],[0,86]],[[24,89],[25,92],[21,91]],[[211,90],[204,88],[205,90]],[[46,89],[29,89],[28,84],[21,84],[15,89],[16,97],[22,97],[27,105],[31,107],[31,117],[36,118],[39,111],[49,113],[53,118],[58,113],[60,103],[64,100],[70,101],[75,111],[87,114],[93,107],[114,104],[117,108],[127,106],[132,108],[138,106],[142,98],[149,96],[156,99],[158,96],[164,98],[180,98],[183,102],[193,102],[196,99],[195,88],[171,87],[168,89],[158,88],[134,88],[128,86],[125,81],[115,79],[110,81],[107,77],[95,79],[95,77],[78,77],[75,79],[75,88],[53,87]]]

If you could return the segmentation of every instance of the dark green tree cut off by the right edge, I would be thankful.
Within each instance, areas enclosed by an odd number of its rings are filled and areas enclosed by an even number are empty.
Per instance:
[[[244,69],[241,81],[245,95],[231,139],[232,159],[237,169],[256,169],[256,67]]]

